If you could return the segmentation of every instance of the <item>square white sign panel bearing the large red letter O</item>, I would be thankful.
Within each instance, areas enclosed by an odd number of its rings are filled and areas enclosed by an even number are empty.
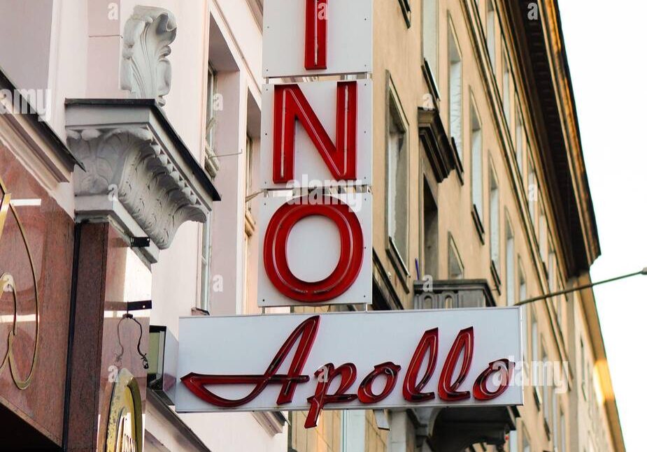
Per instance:
[[[263,198],[258,305],[371,303],[372,207],[370,193]]]

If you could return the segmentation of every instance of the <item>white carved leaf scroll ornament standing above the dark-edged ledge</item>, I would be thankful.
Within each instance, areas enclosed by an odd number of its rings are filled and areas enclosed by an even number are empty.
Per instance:
[[[171,90],[171,43],[178,31],[171,11],[135,6],[124,28],[121,87],[135,99],[155,99],[164,105]]]

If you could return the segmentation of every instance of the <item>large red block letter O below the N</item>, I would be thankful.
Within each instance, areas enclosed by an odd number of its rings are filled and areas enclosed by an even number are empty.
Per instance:
[[[287,263],[287,238],[295,224],[306,217],[321,215],[334,221],[339,229],[341,252],[330,275],[315,282],[297,278]],[[265,231],[263,262],[272,284],[288,298],[300,302],[332,300],[353,285],[362,268],[364,236],[360,220],[339,198],[318,196],[311,203],[303,196],[285,203],[274,212]]]

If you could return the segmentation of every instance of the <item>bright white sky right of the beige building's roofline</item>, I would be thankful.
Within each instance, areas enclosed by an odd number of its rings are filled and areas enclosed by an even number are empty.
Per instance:
[[[559,3],[602,245],[597,281],[647,266],[647,2]],[[595,296],[627,451],[643,451],[647,276]]]

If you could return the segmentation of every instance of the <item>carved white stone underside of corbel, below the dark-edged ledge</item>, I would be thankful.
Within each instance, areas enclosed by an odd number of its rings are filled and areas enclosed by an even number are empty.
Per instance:
[[[71,131],[68,143],[86,169],[75,173],[76,196],[116,196],[159,249],[185,221],[206,221],[206,208],[148,129]]]

